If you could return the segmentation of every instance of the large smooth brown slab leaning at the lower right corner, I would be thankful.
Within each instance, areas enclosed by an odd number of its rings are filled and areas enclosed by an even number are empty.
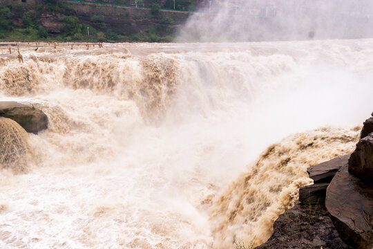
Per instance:
[[[373,248],[373,189],[341,167],[327,188],[325,206],[345,243]]]

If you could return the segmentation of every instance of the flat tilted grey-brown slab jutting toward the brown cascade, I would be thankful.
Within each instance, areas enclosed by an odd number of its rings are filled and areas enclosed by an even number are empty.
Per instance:
[[[312,178],[314,183],[330,183],[341,166],[348,162],[348,158],[350,158],[350,154],[309,167],[307,169],[309,178]]]

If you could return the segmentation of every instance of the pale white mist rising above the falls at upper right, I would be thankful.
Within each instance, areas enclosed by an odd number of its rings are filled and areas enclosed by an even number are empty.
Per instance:
[[[208,1],[206,1],[208,2]],[[212,0],[178,41],[242,42],[373,37],[370,0]],[[209,13],[209,14],[206,14]]]

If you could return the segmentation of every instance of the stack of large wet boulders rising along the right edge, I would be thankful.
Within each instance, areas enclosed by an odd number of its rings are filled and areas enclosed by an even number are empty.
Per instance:
[[[327,188],[325,205],[341,239],[373,248],[373,119],[364,122],[356,150]]]

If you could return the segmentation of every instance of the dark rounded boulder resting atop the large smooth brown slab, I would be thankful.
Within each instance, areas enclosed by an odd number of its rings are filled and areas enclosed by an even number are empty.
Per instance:
[[[348,172],[373,187],[373,133],[358,141],[349,160]]]

